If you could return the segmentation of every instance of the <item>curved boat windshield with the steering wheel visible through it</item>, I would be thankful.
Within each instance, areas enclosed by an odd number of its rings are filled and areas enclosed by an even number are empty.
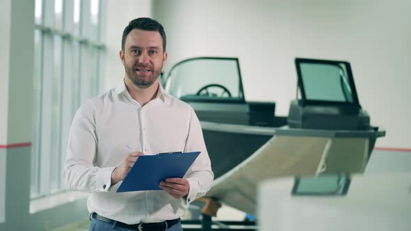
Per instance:
[[[245,101],[238,58],[181,61],[171,68],[165,89],[184,101]]]

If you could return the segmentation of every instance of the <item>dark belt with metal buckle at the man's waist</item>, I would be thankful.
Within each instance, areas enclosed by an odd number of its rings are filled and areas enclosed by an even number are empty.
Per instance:
[[[180,218],[177,218],[174,220],[168,220],[168,221],[163,221],[159,223],[138,223],[134,225],[128,225],[120,221],[114,221],[104,216],[100,216],[96,214],[95,212],[93,212],[93,214],[91,214],[90,217],[95,218],[105,223],[109,223],[109,224],[116,223],[116,226],[121,227],[121,228],[126,228],[128,230],[139,230],[139,231],[164,231],[166,230],[166,228],[170,228],[171,226],[176,225],[177,223],[180,222]]]

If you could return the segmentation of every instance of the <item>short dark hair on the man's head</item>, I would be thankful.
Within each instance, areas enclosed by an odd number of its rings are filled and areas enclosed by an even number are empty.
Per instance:
[[[158,31],[163,40],[163,51],[166,51],[166,32],[162,24],[155,21],[155,19],[150,19],[149,17],[139,17],[137,19],[132,19],[123,31],[123,38],[121,39],[121,49],[124,51],[125,39],[127,35],[133,29],[141,29],[144,31]]]

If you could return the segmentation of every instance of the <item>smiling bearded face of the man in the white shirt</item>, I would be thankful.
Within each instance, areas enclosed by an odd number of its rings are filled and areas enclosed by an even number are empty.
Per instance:
[[[148,88],[159,77],[167,54],[158,31],[133,29],[125,39],[121,62],[127,77],[139,88]]]

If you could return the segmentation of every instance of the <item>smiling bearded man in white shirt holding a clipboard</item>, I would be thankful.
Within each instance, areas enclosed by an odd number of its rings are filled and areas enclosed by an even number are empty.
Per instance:
[[[162,25],[132,20],[120,59],[123,81],[86,101],[73,119],[65,183],[90,192],[90,230],[182,230],[183,206],[205,195],[214,175],[196,114],[157,79],[167,59]],[[183,179],[160,182],[161,191],[116,193],[139,156],[178,151],[201,152]]]

